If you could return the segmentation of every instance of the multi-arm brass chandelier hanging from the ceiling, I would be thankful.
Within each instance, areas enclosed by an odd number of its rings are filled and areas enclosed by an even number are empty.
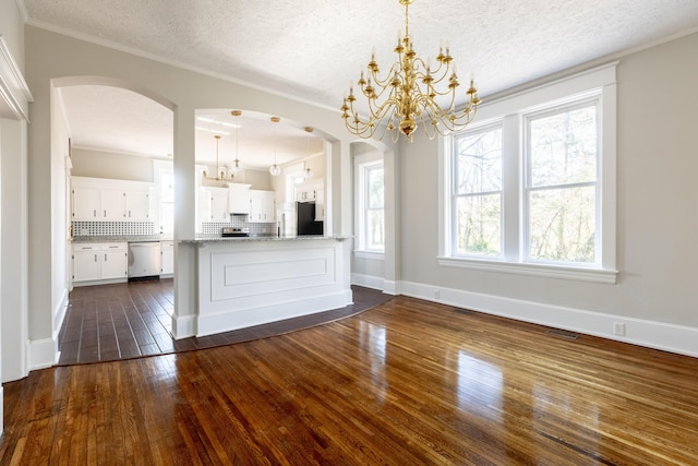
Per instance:
[[[414,0],[398,1],[405,5],[405,36],[398,38],[395,47],[398,59],[387,75],[381,77],[375,52],[371,55],[368,80],[361,72],[357,82],[361,94],[368,99],[371,115],[365,119],[359,116],[354,109],[357,97],[353,95],[353,87],[349,87],[349,96],[345,96],[341,106],[341,118],[345,119],[347,129],[360,138],[376,140],[382,140],[387,131],[392,131],[393,142],[396,143],[400,133],[411,142],[418,122],[424,127],[429,139],[465,129],[474,118],[480,104],[474,79],[470,76],[465,107],[456,110],[456,89],[460,83],[455,64],[452,65],[454,59],[448,47],[445,53],[440,48],[435,70],[425,64],[417,56],[409,36],[408,8]],[[446,88],[437,91],[435,85],[442,82],[446,84]],[[445,100],[448,105],[442,107],[436,99]]]

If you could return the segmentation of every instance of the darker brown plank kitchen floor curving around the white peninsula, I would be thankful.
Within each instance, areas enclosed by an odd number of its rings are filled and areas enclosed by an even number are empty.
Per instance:
[[[249,342],[356,314],[392,297],[352,287],[353,304],[206,337],[172,339],[173,280],[148,279],[74,288],[59,333],[59,365],[113,361]]]

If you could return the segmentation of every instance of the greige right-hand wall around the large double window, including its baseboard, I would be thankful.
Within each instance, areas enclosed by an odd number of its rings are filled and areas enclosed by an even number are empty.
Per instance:
[[[618,64],[617,284],[438,266],[437,143],[416,138],[401,158],[406,292],[607,337],[619,321],[617,339],[698,356],[696,50],[693,34]]]

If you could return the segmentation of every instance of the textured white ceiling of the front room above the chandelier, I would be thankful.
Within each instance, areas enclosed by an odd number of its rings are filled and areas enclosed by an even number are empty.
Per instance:
[[[29,24],[337,109],[372,47],[382,68],[389,68],[405,23],[398,0],[24,3]],[[418,53],[433,58],[440,40],[447,41],[459,74],[474,72],[484,98],[698,29],[697,0],[416,0],[409,11]]]

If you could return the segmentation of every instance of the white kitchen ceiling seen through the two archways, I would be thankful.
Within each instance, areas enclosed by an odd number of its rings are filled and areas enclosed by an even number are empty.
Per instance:
[[[173,154],[173,113],[133,91],[105,85],[60,87],[74,148],[168,158]],[[266,170],[323,152],[323,140],[298,122],[270,121],[267,115],[229,108],[196,110],[196,162],[215,164],[214,134],[219,134],[219,163]],[[236,144],[237,135],[237,144]],[[237,146],[237,152],[236,152]]]

